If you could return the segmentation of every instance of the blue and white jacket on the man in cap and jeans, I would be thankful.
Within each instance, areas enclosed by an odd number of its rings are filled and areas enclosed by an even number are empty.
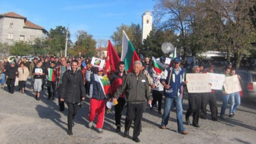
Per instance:
[[[170,88],[168,89],[168,93],[166,92],[166,89],[164,89],[164,95],[165,97],[177,97],[180,94],[182,94],[182,86],[184,84],[184,70],[183,68],[179,67],[179,73],[176,74],[174,68],[167,67],[166,70],[163,72],[163,75],[160,79],[160,82],[163,81],[168,84],[169,78],[170,78],[170,72],[172,70],[172,76],[170,79]]]

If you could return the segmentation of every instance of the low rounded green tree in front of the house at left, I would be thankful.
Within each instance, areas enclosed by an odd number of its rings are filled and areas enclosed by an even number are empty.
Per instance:
[[[24,41],[15,42],[14,45],[10,48],[10,54],[17,56],[26,56],[31,54],[32,51],[33,48],[31,45]]]

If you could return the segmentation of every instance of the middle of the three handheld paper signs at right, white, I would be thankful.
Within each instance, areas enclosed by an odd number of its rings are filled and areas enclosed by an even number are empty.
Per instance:
[[[221,90],[225,81],[225,74],[208,73],[210,76],[211,89]]]

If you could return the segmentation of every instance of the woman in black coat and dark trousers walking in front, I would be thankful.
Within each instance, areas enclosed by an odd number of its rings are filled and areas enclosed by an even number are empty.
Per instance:
[[[77,68],[78,61],[73,60],[71,63],[71,70],[66,71],[62,77],[62,84],[60,87],[61,101],[66,102],[68,106],[68,135],[73,135],[72,126],[74,126],[74,116],[77,113],[78,103],[80,98],[82,100],[86,97],[86,89],[83,85],[82,72]]]

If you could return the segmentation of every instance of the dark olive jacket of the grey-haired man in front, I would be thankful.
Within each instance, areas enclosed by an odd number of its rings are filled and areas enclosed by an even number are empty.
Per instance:
[[[147,77],[143,73],[138,74],[138,76],[134,72],[128,73],[122,81],[122,85],[116,90],[114,98],[118,99],[122,92],[125,92],[127,103],[140,104],[144,103],[145,100],[152,100]]]

